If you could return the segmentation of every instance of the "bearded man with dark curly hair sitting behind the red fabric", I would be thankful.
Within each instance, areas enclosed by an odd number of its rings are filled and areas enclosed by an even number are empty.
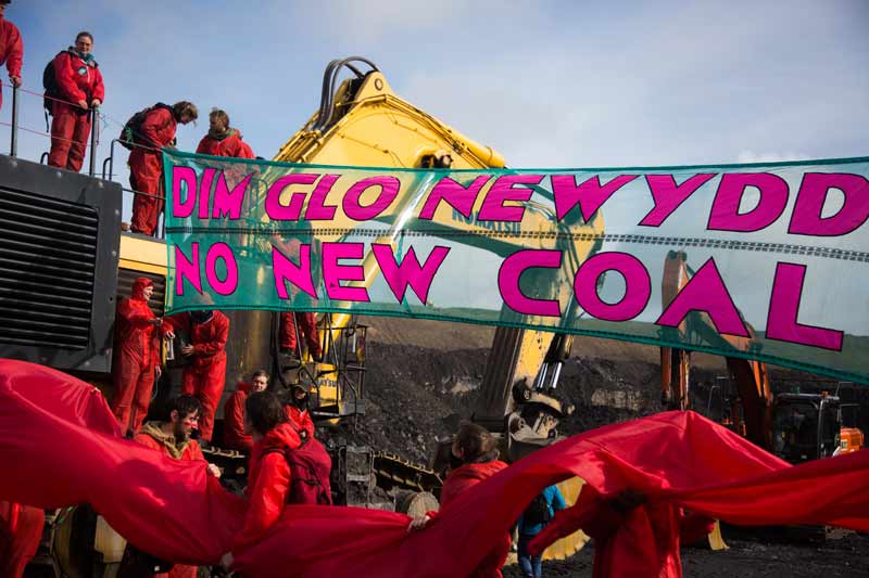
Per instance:
[[[142,446],[176,460],[204,461],[205,458],[202,455],[199,444],[190,439],[190,434],[197,427],[201,414],[202,404],[197,398],[186,395],[178,396],[169,401],[166,409],[166,421],[146,423],[134,439]],[[210,475],[221,477],[221,470],[216,465],[209,464],[207,471]],[[130,565],[137,565],[138,560],[142,556],[148,555],[143,555],[128,545],[124,552],[125,560],[122,562],[122,568],[127,568],[127,574],[118,574],[118,576],[133,574]],[[168,573],[152,574],[151,576],[155,578],[196,578],[197,567],[176,564]]]

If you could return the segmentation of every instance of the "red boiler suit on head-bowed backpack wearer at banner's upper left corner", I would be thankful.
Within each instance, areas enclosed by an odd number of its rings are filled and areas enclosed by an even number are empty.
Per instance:
[[[158,217],[163,210],[160,149],[172,144],[177,126],[172,111],[154,107],[144,117],[136,136],[135,143],[142,146],[134,146],[129,153],[129,184],[134,191],[151,196],[135,195],[133,200],[130,230],[134,233],[153,236],[156,232]]]

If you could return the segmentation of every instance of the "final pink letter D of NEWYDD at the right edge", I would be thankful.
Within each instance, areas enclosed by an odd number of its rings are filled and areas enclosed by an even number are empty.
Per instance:
[[[845,203],[835,215],[821,217],[830,189]],[[794,203],[788,232],[796,235],[839,236],[855,231],[869,218],[869,180],[860,175],[807,172]]]

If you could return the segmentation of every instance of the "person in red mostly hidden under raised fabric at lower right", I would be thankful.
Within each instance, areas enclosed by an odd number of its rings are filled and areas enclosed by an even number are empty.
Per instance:
[[[583,509],[580,528],[594,540],[592,576],[656,576],[679,578],[681,543],[694,543],[715,527],[715,521],[702,514],[685,514],[668,502],[650,502],[633,490],[609,500],[585,486],[579,497]],[[638,540],[652,532],[647,540]],[[640,544],[646,544],[641,548]],[[653,545],[653,548],[648,548]],[[534,550],[531,544],[530,550]]]

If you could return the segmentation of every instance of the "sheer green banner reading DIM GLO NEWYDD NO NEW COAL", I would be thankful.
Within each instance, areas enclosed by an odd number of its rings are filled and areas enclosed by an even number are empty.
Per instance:
[[[417,170],[164,152],[167,312],[508,325],[869,383],[869,158]]]

